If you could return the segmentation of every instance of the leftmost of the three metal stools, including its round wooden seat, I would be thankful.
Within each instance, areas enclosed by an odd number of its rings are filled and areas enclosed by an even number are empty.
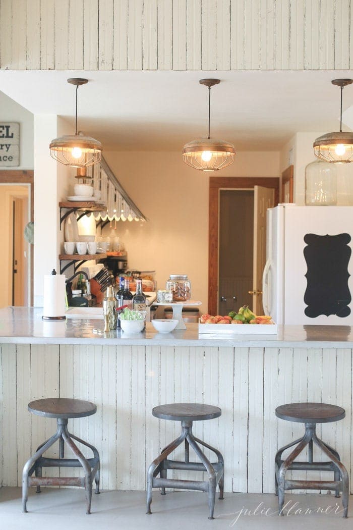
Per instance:
[[[87,444],[86,441],[70,434],[67,429],[68,418],[84,418],[92,416],[97,411],[94,403],[78,399],[51,398],[32,401],[28,404],[28,410],[37,416],[47,418],[57,418],[57,431],[49,440],[41,444],[35,454],[25,463],[22,473],[22,504],[26,513],[28,500],[28,487],[37,486],[37,493],[40,493],[41,485],[53,486],[82,486],[85,488],[87,503],[86,514],[90,514],[90,502],[92,499],[92,481],[95,480],[95,493],[99,493],[99,454],[95,447]],[[93,451],[93,458],[85,458],[74,443],[89,447]],[[49,447],[59,440],[60,458],[44,458],[42,455]],[[64,444],[68,445],[77,458],[64,458]],[[42,467],[80,467],[85,471],[84,477],[42,477]],[[35,476],[31,476],[35,472]]]

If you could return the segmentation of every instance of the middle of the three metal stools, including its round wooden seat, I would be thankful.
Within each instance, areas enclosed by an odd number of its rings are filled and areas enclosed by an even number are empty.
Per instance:
[[[148,468],[148,479],[147,479],[147,514],[151,514],[151,502],[152,502],[152,488],[161,488],[161,494],[166,494],[166,488],[181,488],[189,490],[201,490],[207,491],[209,495],[209,508],[210,517],[214,519],[214,500],[216,493],[216,484],[219,484],[220,488],[220,499],[223,499],[223,474],[224,474],[224,461],[221,453],[206,444],[204,441],[195,438],[192,433],[193,421],[212,420],[221,416],[222,411],[218,407],[212,407],[212,405],[203,405],[199,403],[172,403],[169,405],[161,405],[155,407],[152,410],[153,416],[161,418],[163,420],[181,421],[182,422],[182,434],[167,445],[161,452],[161,454],[153,460]],[[185,441],[185,462],[178,462],[174,460],[168,460],[168,455],[172,453],[180,444]],[[200,447],[197,445],[203,445],[215,453],[218,458],[218,462],[211,463],[208,458],[203,454]],[[189,462],[189,446],[192,447],[198,458],[202,463]],[[167,479],[168,469],[178,470],[192,470],[192,471],[206,471],[208,478],[204,481],[198,480],[177,480]],[[160,478],[157,477],[160,473]]]

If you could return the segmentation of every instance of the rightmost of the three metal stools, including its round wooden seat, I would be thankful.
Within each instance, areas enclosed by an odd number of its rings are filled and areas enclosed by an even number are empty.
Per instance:
[[[340,462],[340,457],[337,451],[332,449],[332,447],[324,441],[320,440],[315,432],[316,423],[329,423],[331,421],[342,420],[346,416],[345,409],[327,403],[292,403],[277,407],[276,416],[282,420],[305,424],[305,434],[303,438],[299,438],[291,444],[282,447],[282,449],[279,449],[276,454],[275,481],[276,495],[278,495],[279,515],[283,515],[282,509],[285,490],[304,488],[308,490],[334,490],[335,497],[339,497],[339,492],[342,491],[343,517],[347,517],[349,496],[349,479],[347,470]],[[313,442],[330,458],[330,462],[313,461]],[[286,460],[281,460],[280,457],[285,449],[296,444],[298,445]],[[307,445],[309,446],[309,462],[294,462],[295,458]],[[334,480],[286,480],[285,474],[287,470],[333,471]]]

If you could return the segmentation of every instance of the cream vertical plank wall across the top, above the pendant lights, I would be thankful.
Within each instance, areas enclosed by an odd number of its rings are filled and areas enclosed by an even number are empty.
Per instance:
[[[352,68],[353,0],[1,0],[0,68]]]

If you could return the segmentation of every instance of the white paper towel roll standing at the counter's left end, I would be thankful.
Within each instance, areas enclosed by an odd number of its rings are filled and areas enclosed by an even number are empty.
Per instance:
[[[65,318],[65,275],[44,276],[43,319]]]

